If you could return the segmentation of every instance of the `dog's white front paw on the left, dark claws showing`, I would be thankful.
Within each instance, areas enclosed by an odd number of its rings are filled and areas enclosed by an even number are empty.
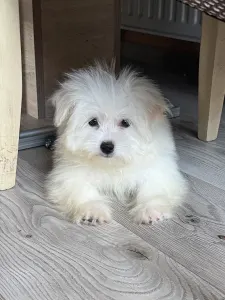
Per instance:
[[[87,202],[79,206],[74,221],[88,225],[109,223],[111,211],[107,205],[100,202]]]

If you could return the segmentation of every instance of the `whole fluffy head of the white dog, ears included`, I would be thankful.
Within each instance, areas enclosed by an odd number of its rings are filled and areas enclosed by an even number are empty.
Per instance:
[[[78,70],[54,95],[55,125],[70,152],[87,159],[128,162],[151,142],[152,123],[165,105],[144,78],[102,67]]]

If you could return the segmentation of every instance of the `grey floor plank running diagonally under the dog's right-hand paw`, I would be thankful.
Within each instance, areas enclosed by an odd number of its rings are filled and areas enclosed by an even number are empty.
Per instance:
[[[225,291],[225,192],[187,176],[190,192],[177,218],[153,226],[136,226],[126,208],[115,204],[115,220],[189,271]]]

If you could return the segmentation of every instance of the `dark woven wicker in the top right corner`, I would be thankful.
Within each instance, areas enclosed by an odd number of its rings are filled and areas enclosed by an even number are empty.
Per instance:
[[[224,0],[181,0],[196,9],[209,14],[221,21],[225,21],[225,1]]]

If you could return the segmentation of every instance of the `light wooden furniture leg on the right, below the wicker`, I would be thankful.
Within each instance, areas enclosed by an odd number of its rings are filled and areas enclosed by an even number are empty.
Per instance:
[[[203,14],[199,63],[199,139],[212,141],[217,138],[224,95],[225,22]]]

